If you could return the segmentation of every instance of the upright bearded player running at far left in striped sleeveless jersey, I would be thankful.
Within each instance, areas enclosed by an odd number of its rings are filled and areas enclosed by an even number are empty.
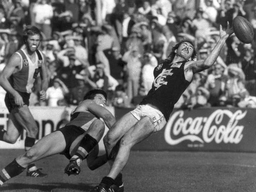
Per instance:
[[[30,93],[37,75],[41,77],[40,99],[46,98],[48,88],[45,56],[38,50],[42,40],[41,32],[35,26],[27,26],[24,30],[23,40],[25,45],[15,52],[0,74],[0,86],[6,90],[5,103],[9,110],[7,130],[0,130],[0,140],[14,144],[21,135],[22,129],[26,130],[25,151],[35,144],[38,127],[28,106]],[[35,164],[28,165],[27,176],[47,177],[37,169]]]

